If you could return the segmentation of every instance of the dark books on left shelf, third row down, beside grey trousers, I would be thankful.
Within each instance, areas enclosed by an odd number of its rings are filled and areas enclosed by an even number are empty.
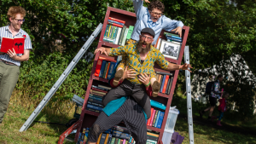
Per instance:
[[[108,93],[109,89],[111,88],[100,84],[98,86],[92,85],[86,110],[92,112],[102,112],[102,97]]]

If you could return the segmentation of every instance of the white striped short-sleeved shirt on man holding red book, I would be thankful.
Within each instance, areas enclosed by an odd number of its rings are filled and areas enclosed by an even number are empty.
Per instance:
[[[15,37],[22,37],[23,35],[26,35],[24,49],[32,49],[32,43],[29,35],[25,31],[23,31],[21,28],[20,28],[20,31],[15,35]],[[2,37],[15,38],[12,32],[9,31],[9,26],[0,27],[0,49],[2,44],[2,40],[1,40]],[[17,54],[17,56],[21,56],[21,55],[22,54]],[[0,59],[14,63],[17,66],[20,66],[20,61],[13,60],[7,54],[0,55]]]

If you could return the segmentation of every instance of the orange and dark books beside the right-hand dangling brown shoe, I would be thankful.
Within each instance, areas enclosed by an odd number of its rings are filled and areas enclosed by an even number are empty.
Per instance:
[[[160,93],[170,95],[173,81],[173,73],[155,72],[156,79],[160,83]]]

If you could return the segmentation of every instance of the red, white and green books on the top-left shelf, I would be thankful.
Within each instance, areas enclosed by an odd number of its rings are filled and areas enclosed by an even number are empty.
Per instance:
[[[118,45],[125,45],[127,39],[131,38],[134,26],[125,26],[124,20],[108,18],[108,25],[104,33],[103,41]]]

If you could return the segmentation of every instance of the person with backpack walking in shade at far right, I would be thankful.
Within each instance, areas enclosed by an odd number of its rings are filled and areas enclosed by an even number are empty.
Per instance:
[[[223,76],[220,74],[218,75],[218,79],[212,84],[212,90],[211,90],[211,95],[209,96],[209,101],[210,101],[210,107],[207,107],[207,109],[200,111],[200,118],[202,118],[203,114],[207,111],[209,112],[208,119],[212,118],[212,112],[216,106],[217,103],[217,98],[220,97],[220,94],[223,94],[223,91],[219,91],[220,89],[220,84],[223,81]]]

